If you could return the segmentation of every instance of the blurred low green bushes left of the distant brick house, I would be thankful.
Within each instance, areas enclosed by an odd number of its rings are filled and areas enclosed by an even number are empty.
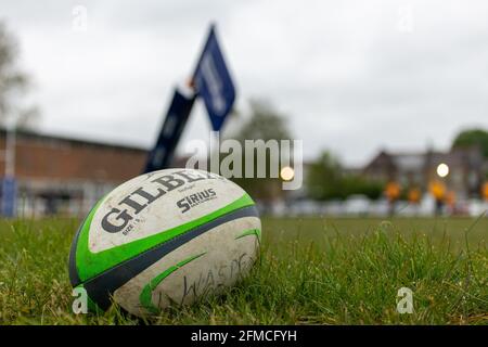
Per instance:
[[[323,152],[310,165],[306,184],[308,194],[316,200],[346,198],[352,194],[363,194],[376,200],[382,195],[384,187],[383,182],[344,174],[338,158],[329,152]]]

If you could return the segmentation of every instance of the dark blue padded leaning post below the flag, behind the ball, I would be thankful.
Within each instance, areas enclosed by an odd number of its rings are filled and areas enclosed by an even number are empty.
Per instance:
[[[171,164],[175,149],[190,116],[194,100],[194,98],[187,98],[175,90],[156,145],[149,153],[144,172],[160,170]]]

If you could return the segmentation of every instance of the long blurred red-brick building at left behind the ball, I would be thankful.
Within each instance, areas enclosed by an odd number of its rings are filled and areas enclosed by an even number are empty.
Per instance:
[[[0,130],[4,153],[7,133]],[[5,156],[0,176],[5,172]],[[18,131],[17,215],[85,215],[106,192],[141,174],[146,150]]]

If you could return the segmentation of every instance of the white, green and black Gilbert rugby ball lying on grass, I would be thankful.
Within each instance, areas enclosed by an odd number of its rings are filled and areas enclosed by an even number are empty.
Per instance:
[[[157,314],[234,285],[255,262],[260,235],[255,204],[237,184],[202,170],[154,171],[92,208],[72,244],[69,279],[92,309],[115,301]]]

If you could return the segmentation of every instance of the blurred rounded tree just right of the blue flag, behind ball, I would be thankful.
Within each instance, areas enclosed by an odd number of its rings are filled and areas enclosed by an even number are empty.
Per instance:
[[[286,127],[286,118],[267,102],[256,100],[251,101],[251,112],[247,117],[237,114],[234,119],[241,119],[243,124],[234,131],[231,138],[237,140],[243,149],[245,149],[244,143],[246,140],[264,140],[264,142],[267,142],[268,140],[280,141],[291,139],[290,130]],[[257,145],[257,147],[262,146],[262,143]],[[254,151],[253,155],[254,163],[251,163],[249,160],[248,157],[244,157],[242,167],[243,172],[245,172],[246,165],[253,164],[253,178],[243,177],[233,178],[232,180],[261,203],[270,204],[275,198],[281,197],[283,194],[281,179],[270,177],[271,165],[278,165],[279,163],[272,162],[270,152],[266,151],[266,178],[257,178],[257,149]]]

